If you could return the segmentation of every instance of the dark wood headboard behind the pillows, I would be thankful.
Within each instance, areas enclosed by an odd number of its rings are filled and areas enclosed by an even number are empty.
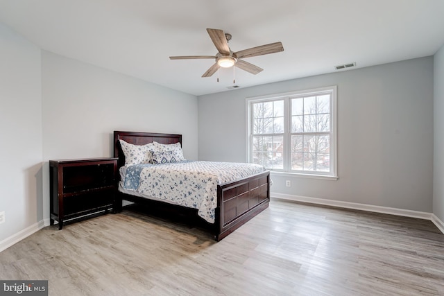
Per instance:
[[[156,141],[162,144],[180,143],[182,145],[182,134],[158,134],[155,132],[119,132],[114,131],[114,157],[119,157],[118,166],[125,164],[125,155],[123,155],[119,140],[126,141],[135,145],[145,145]]]

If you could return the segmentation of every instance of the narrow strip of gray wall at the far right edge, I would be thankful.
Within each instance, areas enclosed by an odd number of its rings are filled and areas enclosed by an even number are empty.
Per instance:
[[[434,55],[433,213],[444,221],[444,46]]]

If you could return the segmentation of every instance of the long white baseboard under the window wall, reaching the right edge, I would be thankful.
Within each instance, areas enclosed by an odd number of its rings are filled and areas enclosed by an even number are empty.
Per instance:
[[[380,207],[372,204],[359,204],[357,202],[342,202],[339,200],[325,200],[323,198],[309,198],[307,196],[300,195],[289,195],[281,193],[272,193],[271,198],[280,198],[282,200],[293,200],[296,202],[308,202],[310,204],[322,204],[332,207],[341,207],[345,209],[357,209],[361,211],[373,211],[375,213],[391,214],[397,216],[420,218],[425,220],[431,220],[438,229],[444,234],[444,223],[439,220],[432,213],[427,213],[424,211],[411,211],[408,209],[396,209],[392,207]]]

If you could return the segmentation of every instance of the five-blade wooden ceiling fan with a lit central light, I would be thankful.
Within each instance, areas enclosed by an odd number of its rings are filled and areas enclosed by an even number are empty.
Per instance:
[[[284,51],[284,47],[281,42],[275,42],[271,44],[261,45],[252,47],[251,49],[244,49],[243,51],[232,52],[230,47],[228,46],[228,42],[231,40],[231,35],[223,33],[222,30],[207,28],[208,35],[218,53],[216,55],[182,55],[182,56],[172,56],[169,57],[171,60],[186,60],[186,59],[215,59],[216,62],[208,69],[205,73],[203,73],[202,77],[210,77],[212,76],[219,67],[229,68],[232,66],[236,66],[244,71],[247,71],[252,74],[257,74],[260,71],[264,70],[255,66],[254,64],[250,64],[244,60],[243,58],[251,58],[257,55],[268,55],[268,53],[278,53],[280,51]]]

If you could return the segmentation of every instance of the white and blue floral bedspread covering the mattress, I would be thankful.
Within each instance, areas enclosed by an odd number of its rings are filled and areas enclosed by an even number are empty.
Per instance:
[[[257,164],[234,162],[135,164],[126,168],[123,188],[198,209],[200,217],[214,223],[217,185],[264,171]]]

